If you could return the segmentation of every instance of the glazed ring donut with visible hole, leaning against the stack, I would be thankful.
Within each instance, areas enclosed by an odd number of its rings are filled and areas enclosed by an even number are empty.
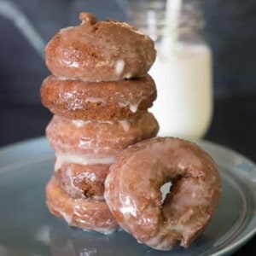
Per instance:
[[[162,201],[160,188],[172,182]],[[119,225],[159,250],[189,247],[212,218],[221,195],[218,168],[195,143],[154,137],[123,150],[104,197]]]

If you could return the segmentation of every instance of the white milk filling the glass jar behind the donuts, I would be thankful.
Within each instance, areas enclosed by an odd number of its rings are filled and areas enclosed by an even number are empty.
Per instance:
[[[150,72],[158,96],[151,111],[161,136],[198,139],[212,119],[212,55],[206,44],[159,49]]]

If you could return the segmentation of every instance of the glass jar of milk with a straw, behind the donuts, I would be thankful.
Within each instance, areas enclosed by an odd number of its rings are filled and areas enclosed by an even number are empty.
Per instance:
[[[158,97],[150,110],[160,124],[160,136],[195,140],[206,134],[212,120],[212,52],[202,36],[195,1],[183,1],[176,22],[166,19],[165,7],[166,1],[137,1],[137,10],[131,8],[130,14],[156,43],[157,58],[149,73]]]

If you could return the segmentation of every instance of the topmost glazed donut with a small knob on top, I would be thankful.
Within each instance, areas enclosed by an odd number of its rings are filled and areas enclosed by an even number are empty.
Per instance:
[[[61,29],[47,44],[45,60],[55,76],[88,82],[132,79],[154,62],[154,42],[134,26],[96,21],[81,13],[82,24]]]

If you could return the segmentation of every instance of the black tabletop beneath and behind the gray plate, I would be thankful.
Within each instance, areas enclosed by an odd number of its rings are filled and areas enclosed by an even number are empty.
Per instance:
[[[44,136],[52,114],[41,105],[0,104],[0,146]],[[244,154],[256,162],[256,96],[218,98],[206,140]],[[256,255],[256,236],[233,254]]]

